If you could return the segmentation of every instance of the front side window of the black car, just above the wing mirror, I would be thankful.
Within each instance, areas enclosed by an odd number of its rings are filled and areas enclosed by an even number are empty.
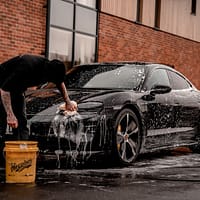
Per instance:
[[[146,90],[151,90],[156,85],[170,86],[169,77],[168,77],[166,70],[164,70],[164,69],[154,70],[150,74],[145,85],[146,85],[146,87],[145,87]]]

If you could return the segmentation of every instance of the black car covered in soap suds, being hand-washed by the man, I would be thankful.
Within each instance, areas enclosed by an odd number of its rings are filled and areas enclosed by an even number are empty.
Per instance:
[[[122,165],[141,153],[197,147],[200,92],[170,66],[93,63],[73,67],[65,81],[77,113],[59,110],[56,89],[27,96],[30,134],[40,157],[57,166],[98,157]],[[61,163],[61,165],[60,165]]]

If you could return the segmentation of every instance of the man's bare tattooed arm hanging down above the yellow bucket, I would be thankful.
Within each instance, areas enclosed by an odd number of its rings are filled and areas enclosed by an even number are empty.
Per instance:
[[[3,106],[4,106],[6,114],[7,114],[7,124],[12,128],[17,128],[18,121],[13,113],[10,92],[0,89],[0,94],[1,94]]]

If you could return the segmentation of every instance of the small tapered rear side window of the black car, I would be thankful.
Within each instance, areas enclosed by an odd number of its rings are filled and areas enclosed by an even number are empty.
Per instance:
[[[183,89],[188,89],[191,87],[191,85],[185,80],[182,76],[179,74],[168,71],[170,82],[172,89],[174,90],[183,90]]]

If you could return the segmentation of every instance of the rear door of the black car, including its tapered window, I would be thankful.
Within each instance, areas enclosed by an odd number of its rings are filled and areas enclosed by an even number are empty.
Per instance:
[[[168,71],[174,96],[175,127],[179,134],[178,140],[182,143],[190,143],[196,140],[195,136],[199,128],[199,91],[183,76]]]

